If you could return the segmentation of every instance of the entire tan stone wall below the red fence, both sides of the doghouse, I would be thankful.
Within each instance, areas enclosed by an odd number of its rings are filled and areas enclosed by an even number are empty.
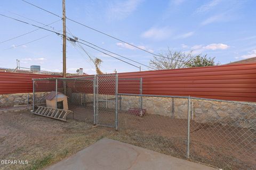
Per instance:
[[[47,92],[36,93],[35,104],[45,103]],[[82,96],[82,100],[81,100]],[[29,97],[29,100],[28,100]],[[99,100],[111,99],[113,95],[98,95]],[[122,96],[118,100],[118,109],[121,112],[129,108],[140,108],[140,97]],[[157,114],[179,119],[188,117],[188,99],[186,98],[163,98],[143,97],[143,109],[146,114]],[[93,94],[73,94],[69,96],[69,104],[93,101]],[[256,106],[243,103],[228,103],[224,101],[190,100],[190,117],[198,123],[220,123],[222,125],[236,126],[240,128],[252,128],[256,130]],[[27,105],[33,103],[33,94],[9,94],[0,95],[0,107],[12,107],[14,105]],[[71,102],[71,103],[70,103]],[[90,105],[93,106],[91,102]],[[100,101],[101,108],[115,109],[114,102]]]

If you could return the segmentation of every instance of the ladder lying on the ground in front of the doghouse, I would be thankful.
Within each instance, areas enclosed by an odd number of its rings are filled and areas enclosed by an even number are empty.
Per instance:
[[[35,112],[33,112],[36,115],[55,118],[57,120],[61,121],[67,121],[66,117],[69,113],[73,113],[72,111],[63,110],[59,108],[51,108],[51,107],[45,107],[45,106],[38,106]],[[73,113],[74,118],[74,113]]]

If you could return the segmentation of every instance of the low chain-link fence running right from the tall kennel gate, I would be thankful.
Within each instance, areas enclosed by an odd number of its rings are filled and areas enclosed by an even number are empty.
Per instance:
[[[256,104],[140,95],[136,81],[118,89],[118,128],[132,142],[223,169],[256,169]]]

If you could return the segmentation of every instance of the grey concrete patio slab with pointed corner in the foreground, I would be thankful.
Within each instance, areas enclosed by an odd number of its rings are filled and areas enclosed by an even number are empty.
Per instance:
[[[214,170],[215,168],[167,156],[127,143],[103,138],[93,145],[77,152],[77,154],[63,159],[47,169]]]

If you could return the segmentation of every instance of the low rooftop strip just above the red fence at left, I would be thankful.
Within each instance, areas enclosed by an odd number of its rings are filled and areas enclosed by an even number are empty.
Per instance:
[[[49,75],[62,75],[60,72],[51,72],[51,71],[31,71],[25,69],[8,69],[0,67],[0,72],[15,72],[15,73],[34,73],[34,74],[49,74]],[[67,76],[78,75],[78,73],[67,73]],[[84,73],[83,75],[88,75]]]

